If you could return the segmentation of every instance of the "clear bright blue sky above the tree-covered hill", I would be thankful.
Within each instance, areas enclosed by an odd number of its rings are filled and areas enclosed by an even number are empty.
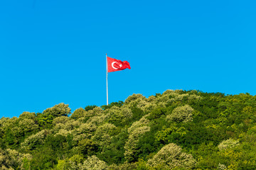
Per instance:
[[[256,1],[0,1],[0,118],[166,89],[256,94]]]

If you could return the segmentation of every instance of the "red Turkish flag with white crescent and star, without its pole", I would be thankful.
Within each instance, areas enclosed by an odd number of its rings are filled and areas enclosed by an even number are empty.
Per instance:
[[[107,57],[107,72],[117,72],[127,68],[131,69],[129,62]]]

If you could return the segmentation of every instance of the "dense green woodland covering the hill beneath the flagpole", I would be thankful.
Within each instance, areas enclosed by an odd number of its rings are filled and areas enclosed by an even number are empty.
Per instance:
[[[0,169],[256,169],[256,96],[167,90],[0,119]]]

